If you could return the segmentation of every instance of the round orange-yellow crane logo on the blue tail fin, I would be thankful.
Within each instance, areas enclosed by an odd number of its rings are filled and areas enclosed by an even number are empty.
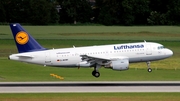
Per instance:
[[[21,31],[16,34],[16,42],[18,44],[24,45],[28,42],[28,40],[29,36],[26,32]]]

